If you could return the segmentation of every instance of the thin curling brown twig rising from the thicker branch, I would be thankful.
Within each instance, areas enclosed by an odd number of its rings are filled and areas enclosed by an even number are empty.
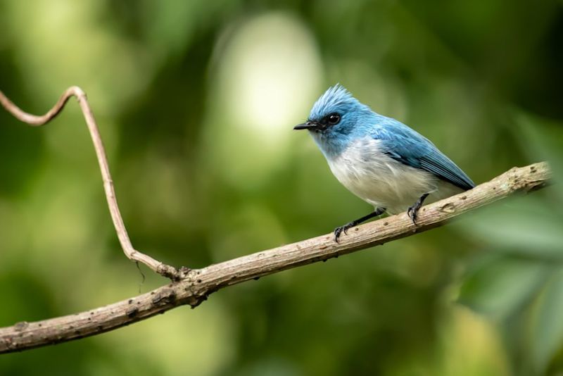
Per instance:
[[[80,89],[80,87],[73,86],[66,89],[60,99],[53,108],[51,108],[45,115],[37,116],[31,115],[30,113],[25,113],[18,106],[13,104],[10,99],[8,99],[3,92],[0,91],[0,103],[9,113],[18,118],[19,120],[33,126],[40,126],[49,123],[53,118],[61,112],[71,96],[76,96],[82,113],[84,114],[84,119],[88,125],[88,130],[90,131],[90,136],[92,142],[94,143],[94,149],[96,150],[96,156],[98,158],[98,163],[100,165],[101,177],[103,180],[103,189],[106,192],[106,199],[108,201],[108,208],[110,209],[111,219],[113,220],[113,226],[115,227],[115,232],[118,234],[119,242],[125,253],[125,256],[132,261],[138,261],[144,263],[151,270],[158,272],[158,274],[165,277],[169,277],[172,280],[178,280],[182,276],[182,272],[185,271],[177,270],[173,266],[161,263],[155,260],[151,256],[141,253],[133,248],[131,241],[129,240],[129,235],[127,235],[127,230],[125,230],[125,224],[121,218],[121,213],[119,211],[118,201],[115,199],[115,190],[113,189],[113,180],[111,180],[110,168],[108,165],[108,159],[106,158],[106,150],[103,148],[103,143],[101,142],[100,132],[98,131],[98,126],[96,125],[96,120],[94,120],[94,114],[91,111],[90,105],[86,98],[86,94]]]

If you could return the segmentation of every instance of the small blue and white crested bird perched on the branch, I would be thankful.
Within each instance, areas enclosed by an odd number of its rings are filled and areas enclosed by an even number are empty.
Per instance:
[[[312,106],[308,130],[331,172],[374,211],[336,227],[334,240],[384,213],[407,211],[417,225],[424,201],[438,201],[475,187],[474,182],[426,137],[362,104],[341,84]],[[426,200],[427,199],[427,200]]]

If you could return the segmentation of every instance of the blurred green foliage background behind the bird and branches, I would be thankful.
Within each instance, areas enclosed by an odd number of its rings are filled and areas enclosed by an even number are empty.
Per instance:
[[[197,268],[369,207],[292,132],[341,82],[476,182],[563,173],[555,0],[0,0],[0,88],[89,95],[134,245]],[[73,101],[72,101],[73,102]],[[0,325],[126,299],[84,120],[0,111]],[[0,356],[0,375],[542,375],[563,370],[563,188],[281,272],[115,332]]]

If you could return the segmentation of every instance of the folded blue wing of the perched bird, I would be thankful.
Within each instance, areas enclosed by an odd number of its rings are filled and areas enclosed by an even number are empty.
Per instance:
[[[380,115],[381,116],[381,115]],[[415,168],[433,173],[467,191],[475,183],[429,139],[399,121],[381,116],[372,128],[372,137],[380,139],[388,156]]]

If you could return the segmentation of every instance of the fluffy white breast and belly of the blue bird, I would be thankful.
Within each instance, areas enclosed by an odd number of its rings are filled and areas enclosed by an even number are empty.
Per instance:
[[[429,203],[462,192],[431,173],[413,168],[381,151],[381,141],[360,139],[339,156],[327,156],[329,167],[344,187],[388,213],[406,211],[420,196],[429,193]]]

